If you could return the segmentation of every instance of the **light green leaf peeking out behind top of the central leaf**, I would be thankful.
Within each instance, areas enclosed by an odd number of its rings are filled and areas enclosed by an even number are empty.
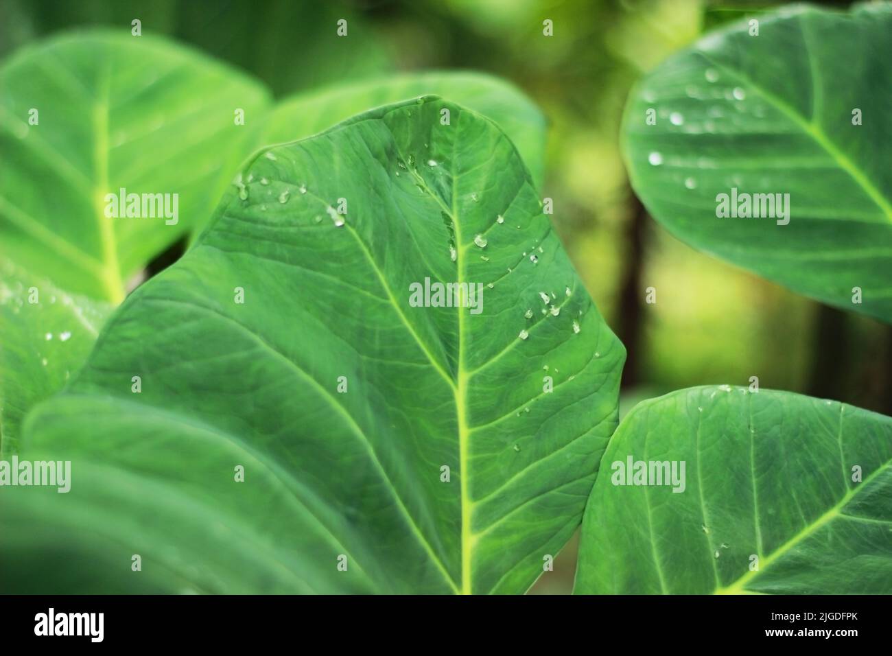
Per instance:
[[[491,75],[438,71],[353,82],[296,95],[278,104],[265,121],[264,145],[310,137],[373,107],[420,95],[441,95],[493,120],[514,142],[541,188],[545,119],[514,85]]]

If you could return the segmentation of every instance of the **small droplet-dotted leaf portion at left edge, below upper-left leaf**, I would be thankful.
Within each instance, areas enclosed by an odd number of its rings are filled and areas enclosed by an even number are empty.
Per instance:
[[[109,311],[0,258],[0,456],[16,451],[25,412],[87,360]]]

